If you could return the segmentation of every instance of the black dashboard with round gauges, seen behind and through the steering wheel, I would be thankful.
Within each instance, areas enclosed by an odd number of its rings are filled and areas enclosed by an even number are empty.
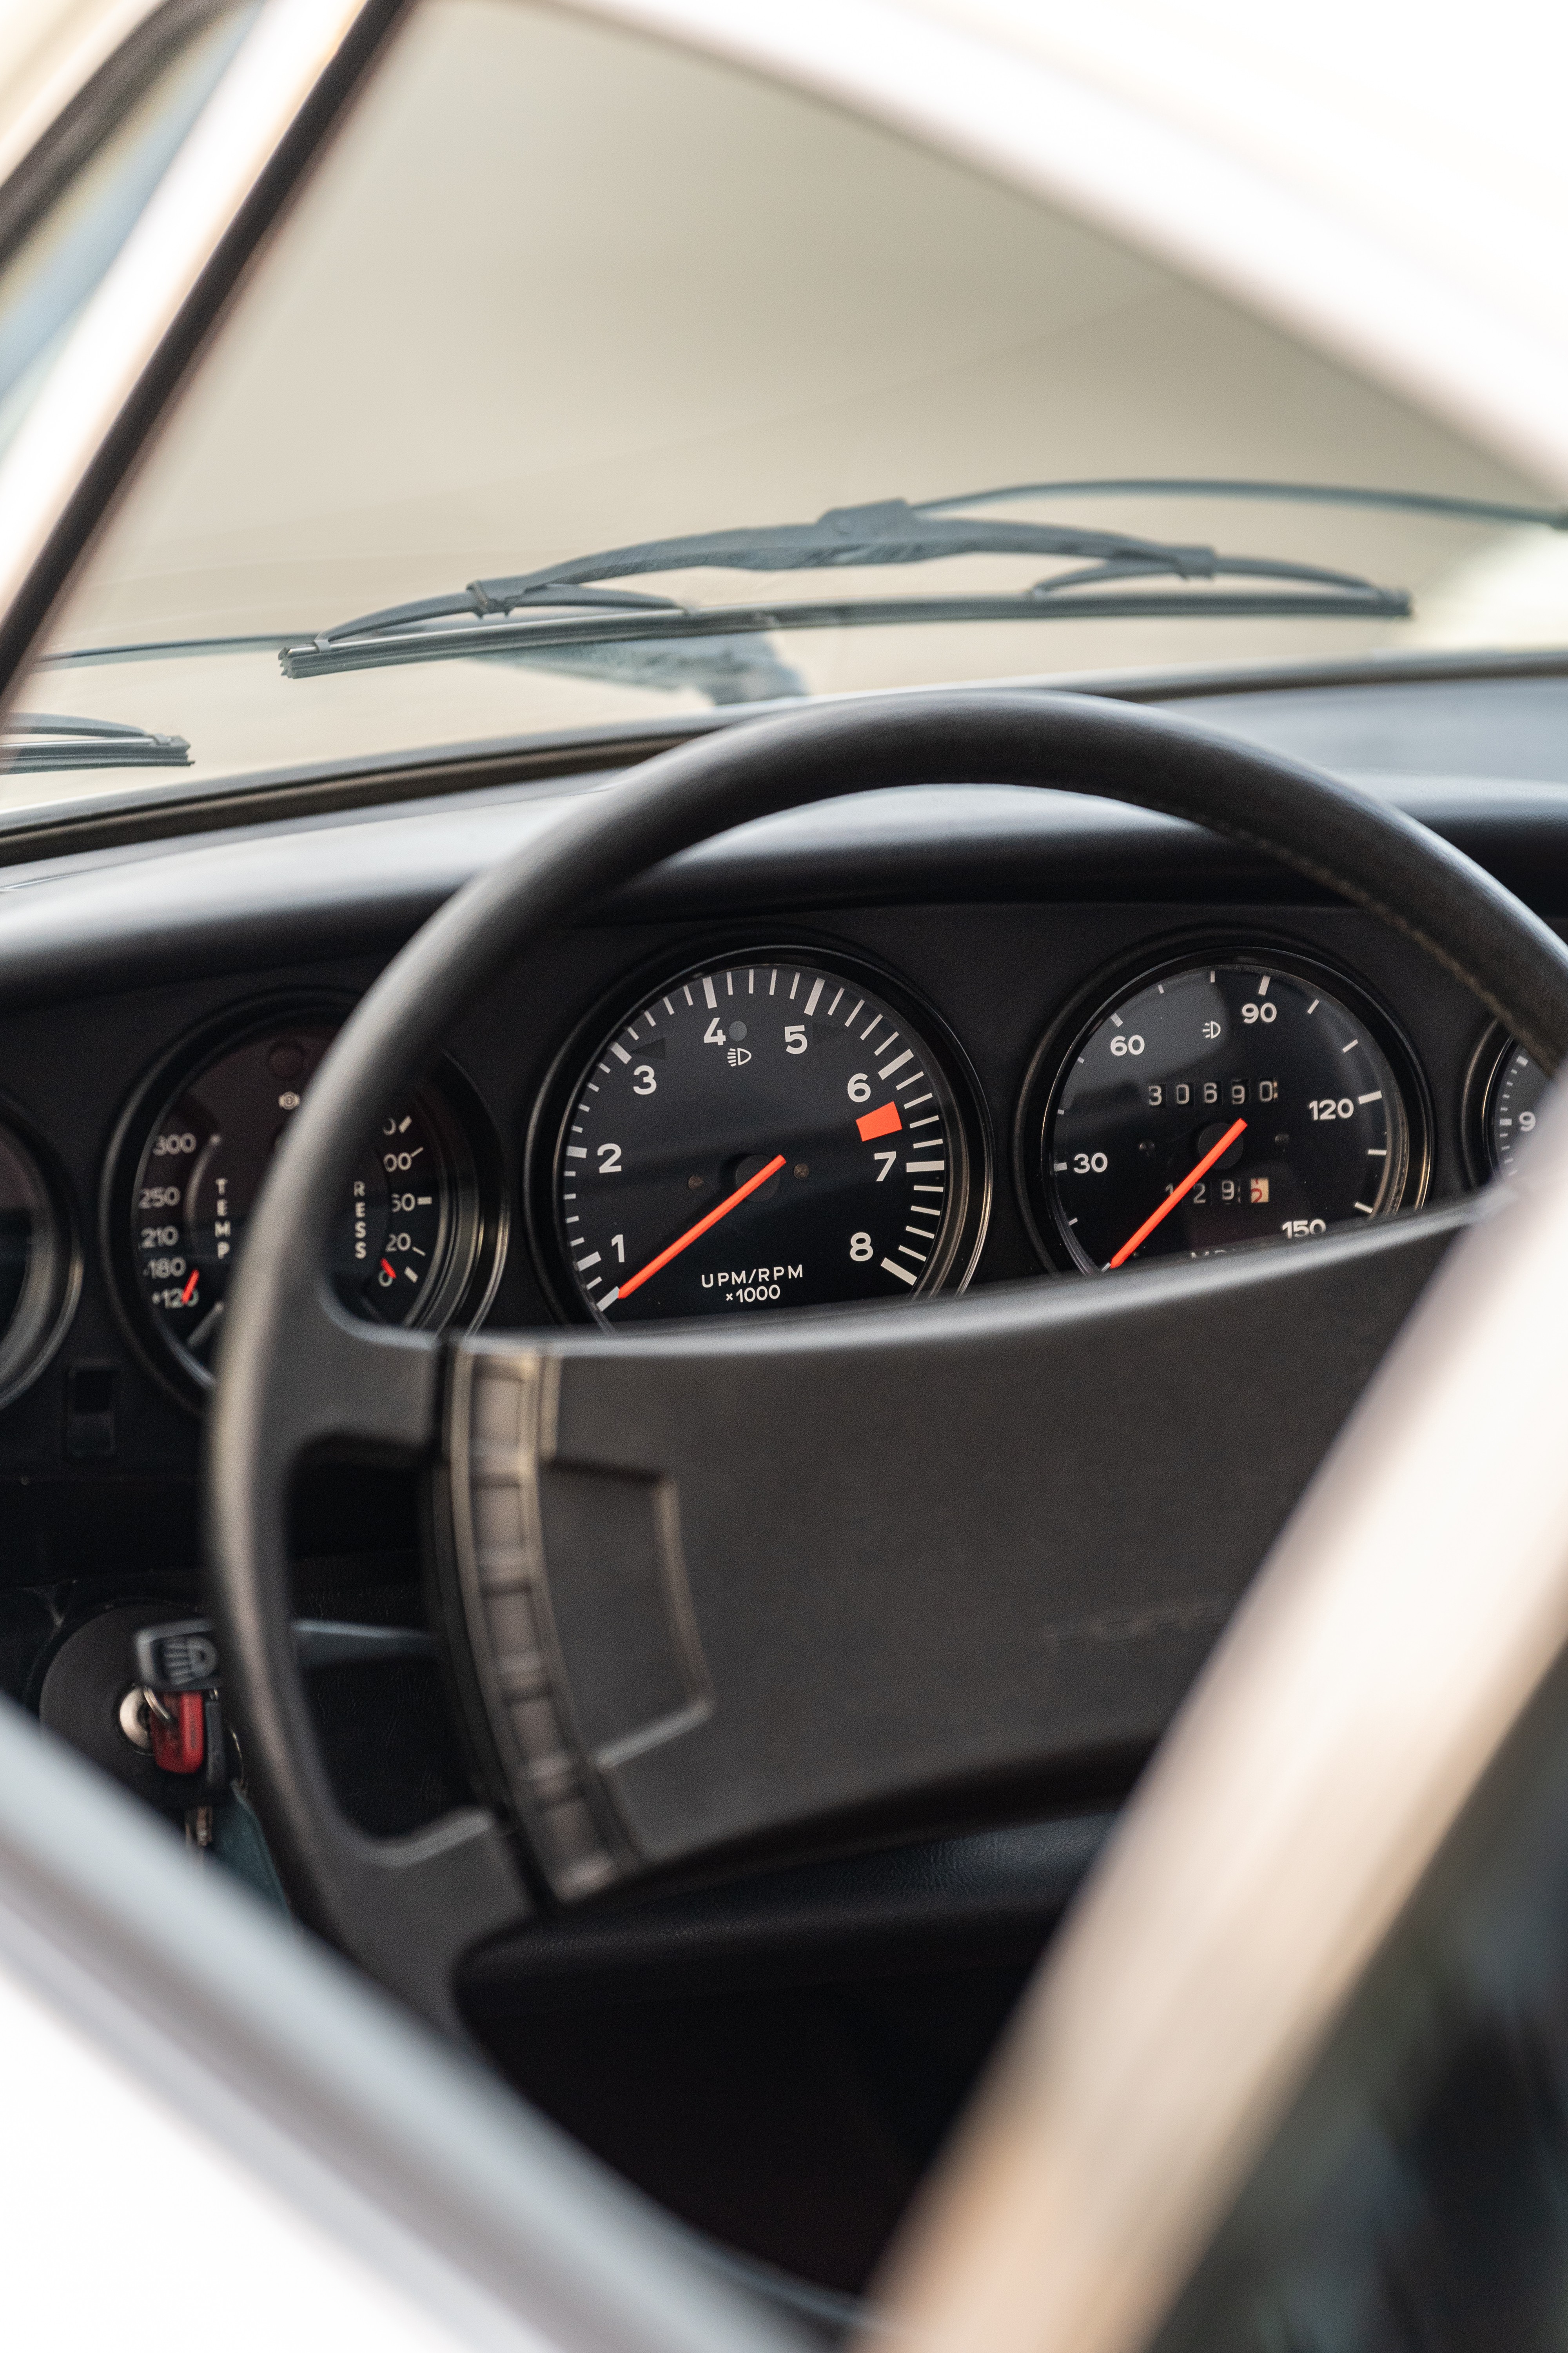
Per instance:
[[[1537,904],[1568,856],[1556,781],[1373,788],[1530,866]],[[0,1525],[28,1584],[190,1567],[270,1153],[386,955],[559,791],[614,774],[7,871]],[[879,793],[710,842],[520,967],[364,1139],[331,1275],[378,1320],[614,1329],[1095,1280],[1455,1200],[1540,1092],[1406,941],[1190,826]]]

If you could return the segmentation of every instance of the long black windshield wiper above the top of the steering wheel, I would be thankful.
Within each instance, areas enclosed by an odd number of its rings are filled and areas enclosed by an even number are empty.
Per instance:
[[[470,581],[435,598],[388,605],[280,652],[284,678],[475,654],[536,654],[614,640],[748,635],[776,628],[886,628],[907,621],[1140,619],[1150,614],[1406,619],[1403,588],[1359,572],[1328,572],[1272,555],[1222,555],[1211,546],[1140,539],[1065,522],[999,522],[950,515],[954,501],[835,506],[816,522],[642,539],[510,579]],[[973,499],[969,504],[976,504]],[[663,572],[837,572],[926,565],[952,555],[1079,558],[1079,569],[1018,593],[926,598],[811,598],[769,605],[682,605],[604,588],[611,579]],[[1128,586],[1173,579],[1178,588]],[[1232,591],[1213,581],[1258,581]]]

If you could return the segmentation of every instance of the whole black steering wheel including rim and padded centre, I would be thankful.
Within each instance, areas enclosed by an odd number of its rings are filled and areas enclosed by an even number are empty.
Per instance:
[[[898,1807],[976,1812],[1145,1741],[1474,1214],[637,1339],[440,1339],[336,1304],[327,1235],[364,1134],[548,932],[748,819],[976,779],[1269,852],[1422,946],[1544,1068],[1568,1054],[1568,951],[1460,852],[1305,767],[1086,696],[907,694],[724,729],[458,892],[277,1153],[205,1499],[226,1694],[289,1897],[444,2026],[458,1962],[522,1929],[531,1889],[576,1901]],[[327,1445],[430,1466],[437,1642],[484,1802],[404,1838],[339,1812],[292,1647],[289,1489]]]

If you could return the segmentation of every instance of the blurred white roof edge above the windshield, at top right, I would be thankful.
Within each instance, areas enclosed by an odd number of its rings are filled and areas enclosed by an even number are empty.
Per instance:
[[[1166,19],[1152,56],[1138,0],[567,5],[1063,205],[1568,494],[1568,181],[1549,160],[1509,172],[1497,120],[1448,139],[1441,113],[1401,108],[1394,87],[1387,101],[1375,82],[1312,87],[1222,26],[1204,40]]]

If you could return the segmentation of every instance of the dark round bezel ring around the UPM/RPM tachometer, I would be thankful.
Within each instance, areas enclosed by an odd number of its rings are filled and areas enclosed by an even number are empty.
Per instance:
[[[592,1012],[571,1028],[550,1064],[550,1073],[534,1099],[534,1113],[529,1118],[522,1205],[534,1268],[555,1318],[567,1325],[592,1325],[599,1332],[609,1329],[607,1318],[597,1315],[585,1304],[571,1278],[567,1238],[559,1224],[555,1169],[567,1141],[571,1108],[578,1101],[595,1064],[604,1056],[609,1040],[625,1028],[632,1014],[637,1014],[649,998],[663,995],[672,988],[684,988],[696,974],[712,972],[715,965],[724,962],[830,965],[846,979],[865,984],[875,991],[893,1012],[903,1014],[929,1040],[933,1052],[940,1056],[943,1078],[952,1092],[957,1136],[964,1148],[964,1169],[959,1184],[954,1184],[954,1195],[961,1193],[961,1198],[954,1198],[954,1214],[947,1226],[940,1264],[924,1278],[919,1292],[910,1297],[952,1297],[969,1289],[990,1226],[994,1151],[980,1080],[976,1078],[973,1064],[952,1028],[943,1021],[931,1000],[912,988],[903,974],[891,972],[886,965],[867,958],[858,948],[842,948],[832,939],[811,939],[802,934],[778,941],[738,932],[703,941],[703,951],[698,955],[682,955],[679,962],[649,958],[642,967],[637,967],[637,972],[623,976],[611,993],[595,1002]],[[811,1308],[809,1313],[823,1311]]]

